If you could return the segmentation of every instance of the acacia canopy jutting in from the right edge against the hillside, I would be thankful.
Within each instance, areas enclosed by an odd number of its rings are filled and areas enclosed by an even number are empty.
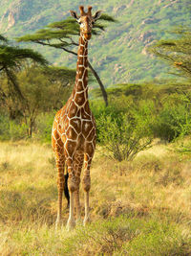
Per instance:
[[[176,67],[176,75],[191,80],[191,30],[179,29],[172,33],[178,35],[177,38],[159,40],[148,48],[148,52]]]

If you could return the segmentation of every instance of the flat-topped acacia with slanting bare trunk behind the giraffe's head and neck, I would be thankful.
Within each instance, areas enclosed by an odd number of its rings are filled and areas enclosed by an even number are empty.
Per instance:
[[[92,34],[100,35],[101,31],[105,30],[105,22],[116,22],[116,20],[112,16],[102,14],[99,18],[99,21],[94,25]],[[75,50],[75,48],[78,46],[78,42],[76,41],[76,35],[78,37],[79,34],[79,25],[73,18],[69,17],[65,20],[51,23],[46,26],[45,29],[39,30],[33,35],[24,35],[22,37],[19,37],[17,38],[17,41],[31,41],[37,44],[61,49],[68,54],[77,56]],[[107,93],[105,91],[103,83],[100,80],[98,74],[96,73],[96,70],[93,68],[92,64],[88,62],[88,65],[100,86],[105,105],[108,105]]]

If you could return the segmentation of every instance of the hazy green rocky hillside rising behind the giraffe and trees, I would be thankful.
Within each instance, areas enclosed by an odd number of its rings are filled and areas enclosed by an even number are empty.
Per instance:
[[[0,33],[9,37],[32,34],[45,25],[59,21],[77,11],[78,6],[92,1],[3,0],[0,9]],[[146,54],[153,41],[170,36],[176,26],[189,26],[189,0],[121,0],[94,3],[95,12],[102,10],[117,18],[106,32],[93,37],[90,60],[106,85],[123,82],[151,81],[170,78],[163,62]],[[56,65],[74,68],[74,56],[46,47],[30,45]]]

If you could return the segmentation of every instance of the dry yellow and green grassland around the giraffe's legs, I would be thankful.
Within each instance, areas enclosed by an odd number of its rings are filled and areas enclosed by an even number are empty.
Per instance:
[[[66,201],[63,226],[54,229],[51,147],[0,143],[0,255],[191,255],[191,155],[177,147],[156,142],[131,163],[98,148],[92,223],[68,233]]]

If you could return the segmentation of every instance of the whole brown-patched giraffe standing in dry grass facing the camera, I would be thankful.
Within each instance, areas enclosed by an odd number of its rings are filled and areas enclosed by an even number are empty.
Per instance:
[[[90,167],[96,149],[96,122],[88,101],[88,41],[91,38],[94,23],[100,17],[101,12],[98,11],[95,15],[92,15],[92,7],[90,6],[88,7],[88,12],[84,11],[83,6],[79,7],[79,11],[80,15],[70,11],[80,26],[74,89],[66,105],[56,113],[52,131],[52,145],[58,171],[56,226],[61,223],[62,194],[67,182],[67,175],[65,175],[67,170],[70,194],[68,230],[75,226],[74,206],[76,221],[80,221],[79,184],[83,164],[82,185],[85,199],[83,224],[86,225],[90,221]]]

